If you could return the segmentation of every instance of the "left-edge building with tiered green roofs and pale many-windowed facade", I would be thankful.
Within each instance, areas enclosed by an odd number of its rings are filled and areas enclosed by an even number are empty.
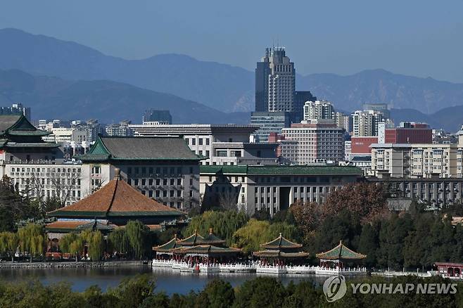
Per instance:
[[[0,177],[8,176],[27,197],[70,204],[82,197],[81,165],[66,162],[58,143],[42,139],[49,134],[22,114],[0,115]]]

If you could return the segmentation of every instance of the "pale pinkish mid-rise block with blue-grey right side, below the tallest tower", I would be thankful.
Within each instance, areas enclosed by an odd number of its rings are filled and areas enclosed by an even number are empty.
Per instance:
[[[336,124],[291,124],[281,135],[281,156],[291,164],[344,160],[344,129]]]

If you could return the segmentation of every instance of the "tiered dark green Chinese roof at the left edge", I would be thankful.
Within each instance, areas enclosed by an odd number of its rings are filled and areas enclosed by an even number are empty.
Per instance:
[[[42,140],[51,134],[32,125],[24,115],[0,115],[0,147],[58,147]]]

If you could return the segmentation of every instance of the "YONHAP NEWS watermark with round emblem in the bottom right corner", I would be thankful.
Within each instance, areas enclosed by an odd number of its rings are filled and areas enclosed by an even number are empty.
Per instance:
[[[353,294],[455,294],[457,283],[350,283]],[[347,293],[342,275],[331,276],[323,283],[327,302],[341,300]]]

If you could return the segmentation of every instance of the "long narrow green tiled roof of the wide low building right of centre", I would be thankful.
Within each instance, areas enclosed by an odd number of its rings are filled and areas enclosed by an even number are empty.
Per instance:
[[[363,174],[352,166],[200,166],[201,174]]]

